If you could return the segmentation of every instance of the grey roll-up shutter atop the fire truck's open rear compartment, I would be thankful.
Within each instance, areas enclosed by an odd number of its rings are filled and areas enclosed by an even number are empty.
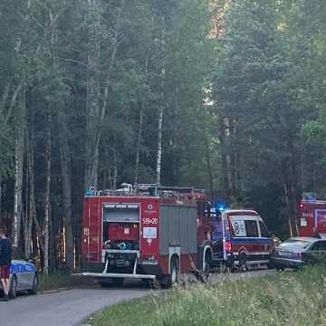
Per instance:
[[[104,204],[103,222],[139,222],[138,204]]]

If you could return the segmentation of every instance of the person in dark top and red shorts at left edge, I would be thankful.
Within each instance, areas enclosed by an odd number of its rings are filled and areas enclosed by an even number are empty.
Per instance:
[[[5,236],[5,229],[0,228],[0,278],[5,292],[2,301],[9,300],[10,290],[10,265],[12,260],[12,245],[10,240]]]

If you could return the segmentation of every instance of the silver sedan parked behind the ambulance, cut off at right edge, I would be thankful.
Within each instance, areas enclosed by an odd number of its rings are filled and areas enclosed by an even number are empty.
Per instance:
[[[277,270],[299,269],[305,264],[326,262],[326,239],[314,237],[292,237],[276,246],[271,262]]]

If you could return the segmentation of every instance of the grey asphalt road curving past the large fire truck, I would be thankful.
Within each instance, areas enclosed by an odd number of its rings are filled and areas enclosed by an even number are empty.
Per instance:
[[[211,275],[210,282],[230,282],[261,277],[274,271]],[[79,325],[93,312],[130,299],[142,297],[152,290],[139,281],[127,283],[122,289],[101,289],[99,286],[62,292],[20,295],[10,302],[0,302],[1,326],[71,326]]]

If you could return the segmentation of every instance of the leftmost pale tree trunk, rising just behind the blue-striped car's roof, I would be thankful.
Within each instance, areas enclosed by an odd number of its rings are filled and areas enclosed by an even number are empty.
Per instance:
[[[16,124],[15,157],[14,157],[14,219],[12,239],[18,246],[23,218],[23,170],[24,170],[24,137],[25,137],[25,93],[19,97],[18,123]]]

